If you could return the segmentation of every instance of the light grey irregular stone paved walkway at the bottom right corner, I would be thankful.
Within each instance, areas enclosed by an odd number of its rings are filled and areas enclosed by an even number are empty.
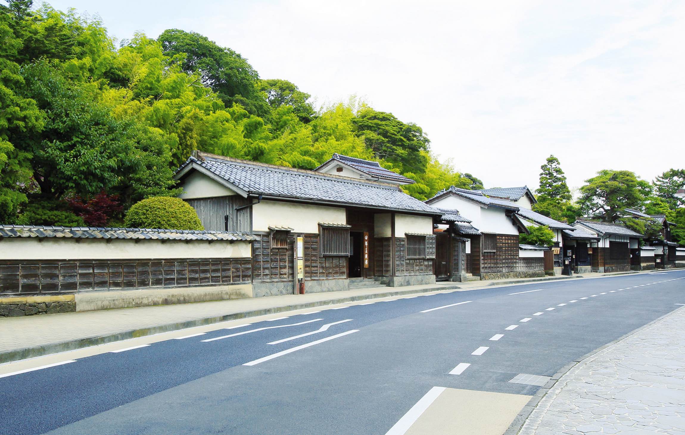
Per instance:
[[[519,434],[685,434],[685,307],[574,366]]]

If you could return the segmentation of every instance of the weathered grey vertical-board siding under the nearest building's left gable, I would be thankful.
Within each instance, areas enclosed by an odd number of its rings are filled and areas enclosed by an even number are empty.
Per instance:
[[[229,197],[186,199],[186,202],[195,208],[197,216],[205,229],[212,231],[235,231],[241,233],[252,232],[251,208],[238,210],[236,208],[247,206],[252,200],[232,195]],[[228,228],[225,226],[224,216],[228,216]]]

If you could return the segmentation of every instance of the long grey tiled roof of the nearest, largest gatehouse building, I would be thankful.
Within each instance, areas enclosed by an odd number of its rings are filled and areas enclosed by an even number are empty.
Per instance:
[[[390,184],[220,156],[200,156],[201,158],[188,158],[178,169],[176,177],[181,176],[187,166],[197,165],[225,180],[229,187],[235,186],[247,195],[440,214],[435,208]]]

